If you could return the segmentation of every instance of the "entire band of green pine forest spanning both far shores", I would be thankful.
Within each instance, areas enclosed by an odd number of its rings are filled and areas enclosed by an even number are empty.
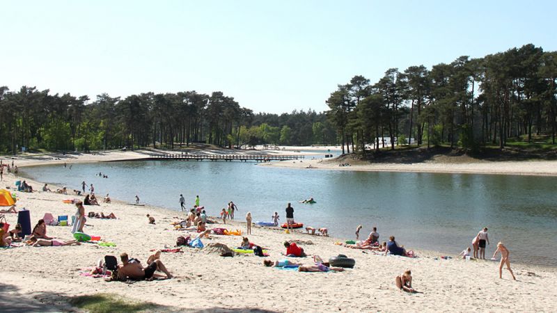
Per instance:
[[[342,145],[343,153],[409,144],[477,150],[535,136],[555,145],[556,80],[557,52],[530,44],[483,58],[460,56],[431,69],[390,68],[375,83],[356,75],[331,92],[329,110],[321,113],[253,113],[218,91],[123,99],[101,94],[92,100],[0,87],[0,152],[175,149],[191,143]]]

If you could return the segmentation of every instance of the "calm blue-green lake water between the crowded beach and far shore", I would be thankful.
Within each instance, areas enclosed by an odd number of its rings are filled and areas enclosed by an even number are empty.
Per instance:
[[[191,205],[199,195],[213,216],[233,200],[242,220],[247,211],[266,221],[278,211],[284,222],[284,208],[292,202],[297,221],[328,227],[333,236],[353,239],[362,224],[365,237],[377,226],[381,240],[392,234],[407,247],[443,252],[462,251],[487,226],[489,257],[503,241],[515,261],[557,265],[557,177],[293,170],[208,161],[40,166],[25,174],[76,189],[86,181],[97,195],[109,192],[131,202],[137,194],[141,202],[174,210],[180,193]],[[309,197],[317,203],[297,203]]]

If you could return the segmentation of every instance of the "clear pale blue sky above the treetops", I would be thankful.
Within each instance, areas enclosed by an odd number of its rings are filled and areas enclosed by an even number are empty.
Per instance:
[[[356,74],[557,50],[556,13],[557,1],[2,1],[0,86],[222,91],[255,112],[324,111]]]

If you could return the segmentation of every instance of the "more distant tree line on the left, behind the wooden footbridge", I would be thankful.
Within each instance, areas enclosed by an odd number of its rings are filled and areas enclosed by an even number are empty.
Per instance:
[[[22,147],[90,151],[174,149],[191,143],[221,147],[336,143],[336,131],[324,113],[254,114],[221,92],[141,93],[124,99],[102,94],[90,100],[35,87],[17,91],[0,87],[0,152],[15,154]]]

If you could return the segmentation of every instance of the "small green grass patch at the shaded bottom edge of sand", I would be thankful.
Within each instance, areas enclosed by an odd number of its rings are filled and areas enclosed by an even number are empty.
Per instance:
[[[157,309],[155,303],[139,302],[125,299],[116,294],[95,294],[93,296],[78,296],[70,299],[70,304],[91,313],[105,312],[150,312]]]

